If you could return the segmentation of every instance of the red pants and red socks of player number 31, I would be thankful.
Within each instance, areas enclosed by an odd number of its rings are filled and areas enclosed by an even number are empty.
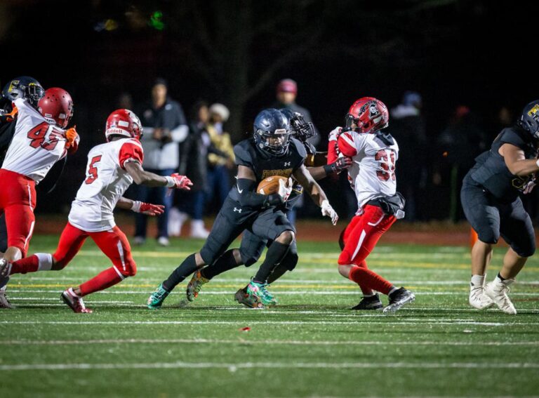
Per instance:
[[[373,290],[387,294],[392,288],[389,281],[368,270],[365,259],[395,220],[394,215],[386,215],[378,206],[367,205],[363,214],[352,218],[342,235],[345,248],[340,253],[338,263],[356,265],[350,270],[349,277],[359,284],[365,294]]]

